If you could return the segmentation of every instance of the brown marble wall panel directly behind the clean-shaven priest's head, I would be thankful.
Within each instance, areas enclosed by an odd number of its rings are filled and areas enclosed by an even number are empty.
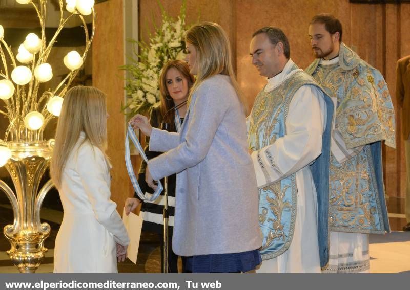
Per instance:
[[[318,13],[333,13],[344,23],[349,19],[346,1],[265,1],[238,0],[235,2],[237,25],[237,77],[244,94],[252,105],[255,96],[265,84],[258,75],[249,56],[252,33],[264,26],[279,27],[288,36],[291,58],[300,68],[306,68],[313,60],[308,35],[309,22]],[[350,34],[346,29],[345,34]]]

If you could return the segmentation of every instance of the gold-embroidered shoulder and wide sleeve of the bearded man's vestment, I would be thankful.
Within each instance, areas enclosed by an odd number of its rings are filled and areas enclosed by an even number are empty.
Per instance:
[[[327,94],[337,97],[336,128],[349,149],[380,140],[395,147],[395,113],[390,95],[385,82],[379,80],[376,84],[373,74],[370,68],[359,66],[346,71],[334,64],[319,65],[313,75]],[[356,82],[359,86],[352,86]]]

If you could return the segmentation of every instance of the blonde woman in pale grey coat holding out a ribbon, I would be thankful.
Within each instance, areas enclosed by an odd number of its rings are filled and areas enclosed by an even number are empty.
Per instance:
[[[191,27],[187,61],[196,82],[180,133],[131,124],[150,136],[146,180],[177,173],[173,251],[187,272],[247,272],[260,264],[258,191],[247,146],[245,99],[235,80],[226,32],[216,23]]]

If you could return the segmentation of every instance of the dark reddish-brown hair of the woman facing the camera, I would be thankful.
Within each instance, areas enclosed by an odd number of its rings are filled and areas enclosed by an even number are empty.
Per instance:
[[[162,73],[159,77],[159,92],[161,94],[161,115],[165,116],[165,113],[171,109],[173,106],[175,106],[174,101],[172,100],[170,93],[167,90],[167,80],[166,80],[166,75],[169,69],[175,68],[177,69],[182,77],[186,78],[188,81],[188,94],[189,91],[191,90],[192,85],[195,82],[195,78],[191,73],[189,72],[189,66],[185,61],[182,60],[170,60],[168,61],[165,66],[162,69]],[[174,126],[174,114],[168,114],[165,116],[164,119],[165,123],[170,123],[171,127]]]

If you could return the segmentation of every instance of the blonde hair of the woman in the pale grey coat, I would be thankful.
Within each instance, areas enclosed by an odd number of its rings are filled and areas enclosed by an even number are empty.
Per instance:
[[[185,41],[196,48],[196,82],[191,90],[188,102],[196,88],[206,79],[217,75],[227,75],[231,79],[239,101],[245,113],[248,110],[247,99],[242,94],[232,68],[231,45],[227,33],[219,24],[202,22],[192,26],[185,36]]]

